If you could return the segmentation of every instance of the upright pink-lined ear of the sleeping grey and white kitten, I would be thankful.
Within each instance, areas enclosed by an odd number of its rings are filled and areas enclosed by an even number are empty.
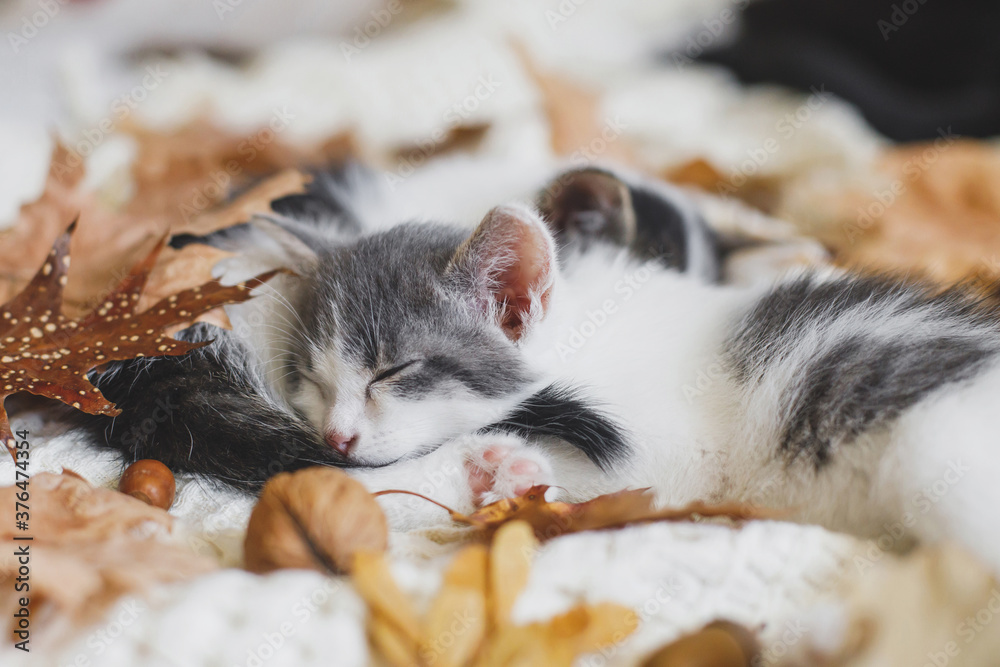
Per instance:
[[[498,206],[459,247],[448,271],[513,341],[545,315],[555,281],[555,243],[528,208]]]

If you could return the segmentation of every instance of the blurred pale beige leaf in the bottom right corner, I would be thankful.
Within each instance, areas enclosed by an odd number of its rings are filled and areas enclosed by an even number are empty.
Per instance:
[[[997,664],[1000,580],[993,567],[947,542],[882,556],[858,549],[837,599],[802,617],[803,636],[788,646],[787,664]],[[831,617],[838,619],[833,627]]]

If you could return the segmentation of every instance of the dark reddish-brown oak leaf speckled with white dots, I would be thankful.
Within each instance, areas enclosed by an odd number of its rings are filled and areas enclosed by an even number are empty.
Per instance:
[[[164,330],[217,306],[245,301],[252,288],[274,275],[229,287],[211,281],[137,312],[161,243],[103,303],[80,319],[71,319],[62,313],[62,295],[74,227],[75,223],[56,240],[28,286],[0,307],[0,439],[12,456],[14,439],[2,406],[8,396],[27,391],[89,414],[117,415],[114,404],[87,379],[90,371],[110,361],[177,356],[206,345],[176,340]]]

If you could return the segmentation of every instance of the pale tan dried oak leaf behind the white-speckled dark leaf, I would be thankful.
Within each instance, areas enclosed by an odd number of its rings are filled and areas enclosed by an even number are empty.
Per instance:
[[[165,144],[163,148],[173,151],[170,166],[184,162],[182,146]],[[187,230],[215,231],[245,222],[255,213],[270,212],[272,200],[302,192],[306,180],[301,174],[286,170],[260,180],[226,204],[193,209],[193,213],[185,215],[185,203],[192,192],[198,191],[192,183],[200,183],[202,187],[214,184],[216,164],[212,160],[185,163],[186,169],[178,169],[177,173],[159,173],[156,179],[147,178],[121,208],[108,202],[107,193],[89,192],[82,186],[85,173],[82,159],[57,143],[42,194],[21,207],[9,229],[0,231],[0,303],[23,289],[65,230],[66,221],[73,216],[82,222],[71,243],[75,259],[63,295],[63,313],[75,317],[99,303],[165,235]],[[148,175],[148,167],[140,156],[133,166],[136,179],[141,174]],[[193,180],[182,180],[182,174]],[[225,198],[231,189],[245,186],[242,181],[234,181],[229,189],[218,186],[217,189],[219,196]],[[139,309],[145,310],[160,296],[170,296],[211,280],[212,266],[229,253],[206,248],[188,245],[181,250],[163,249],[150,273]],[[198,321],[226,326],[227,320],[221,312],[216,309]]]

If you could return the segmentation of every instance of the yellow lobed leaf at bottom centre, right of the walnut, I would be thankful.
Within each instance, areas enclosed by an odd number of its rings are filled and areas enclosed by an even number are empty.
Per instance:
[[[488,550],[463,547],[422,620],[393,580],[385,554],[358,553],[351,576],[368,605],[373,652],[394,667],[571,667],[581,654],[635,631],[638,615],[614,603],[580,604],[545,621],[515,625],[510,611],[527,584],[536,547],[523,521],[502,526]]]

